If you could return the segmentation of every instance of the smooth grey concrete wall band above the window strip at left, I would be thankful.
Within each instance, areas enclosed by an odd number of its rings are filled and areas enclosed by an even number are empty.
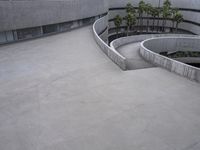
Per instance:
[[[4,0],[0,1],[0,31],[79,20],[107,10],[106,0]]]

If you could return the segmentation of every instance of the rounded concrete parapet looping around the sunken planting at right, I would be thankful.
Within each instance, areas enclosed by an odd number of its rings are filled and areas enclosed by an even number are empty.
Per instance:
[[[162,56],[164,51],[200,51],[199,37],[160,37],[145,40],[140,45],[140,55],[147,61],[177,73],[190,80],[200,82],[200,69]]]

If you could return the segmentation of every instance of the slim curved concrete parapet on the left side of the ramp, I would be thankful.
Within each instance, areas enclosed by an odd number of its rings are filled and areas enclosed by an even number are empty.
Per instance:
[[[114,62],[116,63],[122,70],[126,70],[126,58],[123,57],[121,54],[119,54],[115,49],[109,47],[107,45],[107,37],[108,37],[108,30],[107,28],[108,24],[108,16],[104,16],[100,19],[98,19],[93,24],[93,33],[94,33],[94,39],[96,43],[101,47],[102,51]],[[105,30],[106,29],[106,30]],[[104,31],[105,30],[105,31]],[[102,33],[104,31],[104,33]],[[100,37],[100,34],[103,35],[103,37],[106,39],[102,39],[102,36]]]

